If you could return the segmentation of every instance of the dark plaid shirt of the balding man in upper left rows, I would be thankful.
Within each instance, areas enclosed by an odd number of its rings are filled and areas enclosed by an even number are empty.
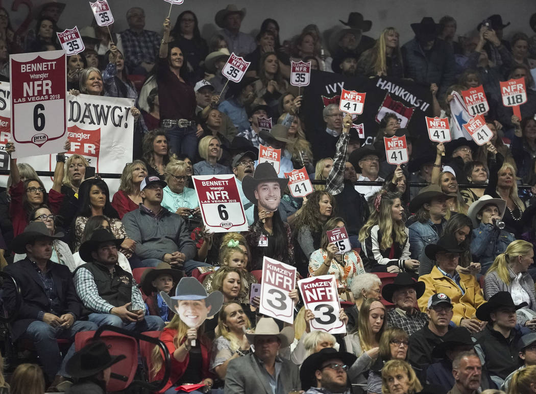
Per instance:
[[[144,30],[137,33],[126,29],[121,33],[123,49],[125,50],[126,66],[133,70],[142,62],[155,63],[160,51],[160,35],[157,32]]]

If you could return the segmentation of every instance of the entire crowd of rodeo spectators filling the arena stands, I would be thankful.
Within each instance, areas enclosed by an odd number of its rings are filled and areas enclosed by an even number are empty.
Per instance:
[[[3,80],[9,54],[61,49],[65,5],[42,4],[24,35],[0,8]],[[2,392],[105,392],[124,356],[99,342],[75,352],[72,341],[109,324],[161,331],[172,358],[165,393],[190,384],[226,394],[536,393],[536,35],[493,14],[455,39],[454,18],[425,17],[401,45],[395,27],[373,38],[373,22],[350,12],[325,41],[316,25],[281,38],[274,19],[254,37],[241,32],[245,14],[234,4],[217,11],[221,30],[209,40],[191,11],[166,18],[163,34],[145,29],[142,8],[126,12],[121,33],[80,30],[86,50],[68,57],[70,93],[135,100],[133,161],[117,168],[110,196],[81,155],[58,152],[48,192],[42,168],[10,160],[0,194],[2,267],[15,281],[2,288],[14,316],[6,366],[30,343],[40,367],[19,365],[9,384],[2,376]],[[239,83],[221,73],[230,53],[251,62]],[[308,122],[291,60],[311,62],[311,84],[333,73],[425,87],[427,114],[451,123],[456,94],[482,85],[493,137],[433,144],[390,110],[364,124],[364,138],[333,102],[322,124]],[[521,117],[502,105],[499,83],[512,78],[526,84]],[[407,165],[385,160],[384,136],[406,136]],[[260,144],[282,150],[279,174],[256,165]],[[294,198],[283,173],[302,167],[319,182]],[[191,176],[219,174],[236,177],[247,232],[203,224]],[[342,226],[352,249],[338,254],[326,231]],[[332,275],[347,333],[311,330],[315,314],[296,289],[294,324],[259,315],[250,291],[264,256],[303,278]],[[196,278],[188,289],[184,277]],[[190,309],[180,317],[173,300]],[[72,345],[60,352],[57,339]],[[158,350],[145,360],[148,381],[162,379],[162,360]]]

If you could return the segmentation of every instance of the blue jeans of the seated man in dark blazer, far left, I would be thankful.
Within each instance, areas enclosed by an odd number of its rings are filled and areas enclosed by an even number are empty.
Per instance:
[[[56,375],[69,377],[65,371],[65,365],[75,354],[75,343],[73,342],[62,362],[62,355],[59,353],[56,339],[75,339],[77,332],[94,331],[97,328],[95,323],[77,321],[70,329],[65,330],[54,328],[45,322],[36,320],[30,323],[23,334],[23,338],[28,338],[33,342],[35,350],[41,359],[44,375],[49,382],[52,382]]]

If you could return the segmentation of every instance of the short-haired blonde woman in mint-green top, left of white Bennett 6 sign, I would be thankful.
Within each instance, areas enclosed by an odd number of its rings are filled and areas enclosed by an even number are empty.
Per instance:
[[[166,183],[162,206],[183,218],[199,213],[196,191],[186,187],[188,165],[182,160],[172,160],[166,166]]]

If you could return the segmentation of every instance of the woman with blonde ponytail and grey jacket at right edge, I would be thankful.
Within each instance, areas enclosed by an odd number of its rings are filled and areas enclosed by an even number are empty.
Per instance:
[[[527,272],[534,262],[532,244],[516,240],[497,256],[484,279],[484,297],[489,300],[498,292],[512,294],[513,302],[526,302],[527,306],[517,310],[517,323],[536,329],[536,296],[534,281]]]

